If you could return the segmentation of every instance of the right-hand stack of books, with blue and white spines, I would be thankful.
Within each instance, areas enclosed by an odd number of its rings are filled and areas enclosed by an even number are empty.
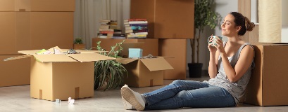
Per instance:
[[[146,19],[124,20],[126,38],[146,38],[148,22]]]

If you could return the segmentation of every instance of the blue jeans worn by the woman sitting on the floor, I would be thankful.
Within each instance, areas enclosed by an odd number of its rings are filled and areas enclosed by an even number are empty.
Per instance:
[[[165,87],[145,93],[144,97],[145,109],[236,106],[232,95],[223,87],[193,80],[174,80]]]

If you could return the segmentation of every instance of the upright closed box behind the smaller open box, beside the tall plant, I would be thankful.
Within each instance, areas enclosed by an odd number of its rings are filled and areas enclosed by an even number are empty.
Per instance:
[[[159,39],[159,55],[167,58],[173,70],[164,71],[164,79],[186,79],[187,39]]]

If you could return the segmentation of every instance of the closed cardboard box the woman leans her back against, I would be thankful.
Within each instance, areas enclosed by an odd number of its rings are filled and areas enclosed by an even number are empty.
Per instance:
[[[258,106],[288,105],[288,44],[253,44],[255,64],[244,103]]]

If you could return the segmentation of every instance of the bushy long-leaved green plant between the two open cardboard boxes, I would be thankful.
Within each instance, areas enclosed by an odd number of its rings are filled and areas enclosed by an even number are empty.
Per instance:
[[[124,41],[116,43],[116,45],[111,47],[109,52],[103,52],[101,55],[117,58],[118,53],[123,50],[123,48],[120,46],[123,44],[123,42]],[[101,41],[97,42],[96,49],[105,51],[103,48],[101,48],[100,43]],[[124,76],[128,74],[125,67],[121,63],[116,62],[116,60],[97,61],[95,62],[94,69],[94,90],[102,87],[103,85],[106,85],[104,91],[116,88],[119,85],[123,85]]]

